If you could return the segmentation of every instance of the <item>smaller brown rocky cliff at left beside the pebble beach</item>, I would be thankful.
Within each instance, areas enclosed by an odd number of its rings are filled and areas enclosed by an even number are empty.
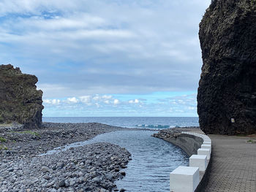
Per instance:
[[[22,74],[12,65],[0,65],[0,121],[14,121],[26,128],[42,123],[42,91],[37,91],[37,77]]]

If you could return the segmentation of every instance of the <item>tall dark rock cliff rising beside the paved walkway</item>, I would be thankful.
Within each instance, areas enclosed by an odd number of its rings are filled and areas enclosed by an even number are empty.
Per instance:
[[[206,134],[256,131],[256,1],[215,0],[200,23],[197,112]]]

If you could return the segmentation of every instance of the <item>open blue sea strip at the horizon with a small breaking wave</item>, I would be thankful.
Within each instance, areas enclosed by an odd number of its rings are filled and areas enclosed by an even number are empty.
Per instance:
[[[198,118],[175,117],[108,117],[108,118],[49,118],[43,117],[45,122],[53,123],[104,123],[110,126],[128,128],[172,128],[176,126],[199,126]]]

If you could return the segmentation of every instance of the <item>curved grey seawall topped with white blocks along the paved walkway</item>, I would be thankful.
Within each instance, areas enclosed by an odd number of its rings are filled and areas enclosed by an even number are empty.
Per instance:
[[[195,132],[189,131],[182,131],[181,133],[175,134],[166,134],[165,132],[155,134],[154,137],[159,137],[167,142],[172,143],[173,145],[180,147],[190,157],[189,166],[179,166],[177,169],[170,173],[170,191],[204,191],[208,183],[209,171],[211,170],[212,153],[209,152],[208,158],[206,158],[205,155],[205,161],[207,159],[207,162],[203,171],[200,170],[200,168],[198,169],[197,166],[203,164],[202,160],[200,160],[202,157],[200,150],[204,150],[205,144],[207,142],[211,143],[211,139],[205,134],[197,134]],[[211,150],[211,144],[209,147]],[[191,169],[194,169],[194,173],[189,175],[188,172],[190,172]],[[191,179],[184,180],[185,177],[191,177]]]

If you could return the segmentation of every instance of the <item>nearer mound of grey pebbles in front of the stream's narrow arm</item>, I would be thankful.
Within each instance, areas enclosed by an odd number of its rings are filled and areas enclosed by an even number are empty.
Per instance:
[[[110,143],[75,147],[53,155],[2,161],[0,191],[113,191],[130,153]],[[116,189],[117,190],[117,189]]]

